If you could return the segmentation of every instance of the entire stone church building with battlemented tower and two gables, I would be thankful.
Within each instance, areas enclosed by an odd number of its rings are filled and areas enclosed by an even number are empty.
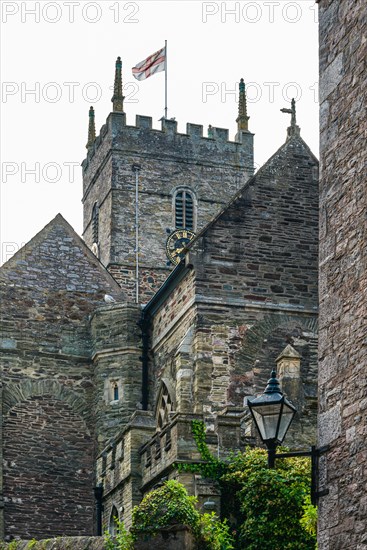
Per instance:
[[[83,238],[61,216],[1,268],[0,533],[45,538],[127,526],[162,479],[254,442],[246,406],[270,371],[298,409],[286,443],[315,443],[318,161],[295,120],[254,174],[245,84],[237,133],[89,113]],[[279,136],[281,143],[282,136]],[[111,527],[112,528],[112,527]]]

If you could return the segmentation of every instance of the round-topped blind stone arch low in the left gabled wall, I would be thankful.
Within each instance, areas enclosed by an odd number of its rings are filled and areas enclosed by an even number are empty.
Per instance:
[[[70,405],[52,396],[12,408],[4,424],[7,536],[93,532],[93,441]]]

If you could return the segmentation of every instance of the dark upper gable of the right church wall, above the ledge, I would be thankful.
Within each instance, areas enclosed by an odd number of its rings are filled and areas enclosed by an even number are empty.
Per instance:
[[[318,162],[289,139],[192,245],[197,293],[317,308]]]

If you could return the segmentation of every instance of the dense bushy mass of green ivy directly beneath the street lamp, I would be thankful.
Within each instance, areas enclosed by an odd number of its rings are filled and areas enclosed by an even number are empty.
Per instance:
[[[314,550],[315,533],[301,524],[309,493],[308,458],[278,460],[267,467],[267,453],[246,449],[233,456],[224,476],[241,512],[239,548],[246,550]]]

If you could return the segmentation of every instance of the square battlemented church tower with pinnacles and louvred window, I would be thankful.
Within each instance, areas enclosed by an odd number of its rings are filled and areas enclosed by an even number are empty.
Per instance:
[[[184,246],[253,174],[243,79],[239,88],[235,141],[228,130],[212,126],[204,137],[198,124],[188,123],[180,134],[175,119],[162,118],[160,130],[147,116],[127,125],[120,57],[113,110],[96,138],[91,108],[82,164],[83,235],[128,301],[147,303],[169,275],[175,258],[167,256],[168,237],[183,230],[174,242]]]

